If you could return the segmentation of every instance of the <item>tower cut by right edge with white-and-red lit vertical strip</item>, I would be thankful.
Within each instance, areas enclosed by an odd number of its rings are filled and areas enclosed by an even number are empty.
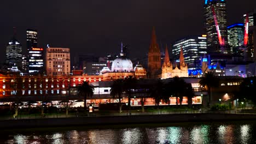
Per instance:
[[[247,47],[248,57],[254,56],[254,33],[256,27],[256,9],[249,11],[243,15],[243,22],[245,23],[245,46]]]

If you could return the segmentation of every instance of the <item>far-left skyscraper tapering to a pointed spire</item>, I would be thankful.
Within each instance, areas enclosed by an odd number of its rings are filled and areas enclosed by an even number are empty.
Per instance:
[[[16,39],[15,28],[13,38],[11,38],[8,45],[6,46],[5,63],[8,65],[8,68],[18,67],[18,69],[21,70],[22,46]]]

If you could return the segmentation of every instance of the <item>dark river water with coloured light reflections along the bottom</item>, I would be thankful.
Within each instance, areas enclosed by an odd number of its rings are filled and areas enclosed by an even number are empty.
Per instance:
[[[0,143],[256,143],[256,122],[5,129]]]

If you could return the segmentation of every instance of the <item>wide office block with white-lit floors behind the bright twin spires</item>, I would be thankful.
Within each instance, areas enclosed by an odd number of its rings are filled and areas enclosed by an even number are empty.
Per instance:
[[[188,65],[188,69],[201,68],[201,57],[207,53],[206,35],[190,36],[177,40],[172,46],[172,57],[174,61],[179,61],[181,48],[183,49],[184,61]]]

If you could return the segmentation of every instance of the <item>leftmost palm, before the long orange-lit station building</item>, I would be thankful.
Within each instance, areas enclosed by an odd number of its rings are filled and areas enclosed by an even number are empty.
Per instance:
[[[77,91],[79,95],[84,96],[84,109],[86,110],[86,98],[92,97],[94,94],[94,86],[90,85],[89,81],[84,81],[78,85]]]

